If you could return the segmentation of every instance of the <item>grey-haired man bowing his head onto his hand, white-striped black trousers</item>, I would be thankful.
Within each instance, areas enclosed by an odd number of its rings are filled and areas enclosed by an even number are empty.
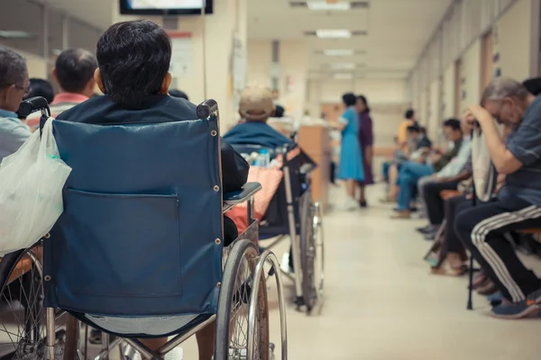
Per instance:
[[[491,81],[481,105],[470,106],[464,119],[481,127],[492,164],[506,178],[496,201],[456,217],[456,233],[503,293],[504,301],[492,313],[507,319],[527,317],[541,305],[541,280],[522,264],[504,235],[541,224],[541,96],[500,77]],[[505,142],[496,121],[512,129]]]

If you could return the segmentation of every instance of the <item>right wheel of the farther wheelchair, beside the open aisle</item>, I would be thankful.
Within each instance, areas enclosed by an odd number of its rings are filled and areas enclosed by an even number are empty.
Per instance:
[[[319,205],[312,205],[309,193],[300,206],[302,293],[310,313],[323,297],[323,231]]]

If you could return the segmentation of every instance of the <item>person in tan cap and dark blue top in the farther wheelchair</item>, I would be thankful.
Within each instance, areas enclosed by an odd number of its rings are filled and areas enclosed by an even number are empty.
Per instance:
[[[275,110],[271,90],[257,84],[247,85],[239,102],[239,113],[243,121],[227,131],[224,139],[232,145],[259,145],[263,148],[294,145],[291,139],[267,124]]]

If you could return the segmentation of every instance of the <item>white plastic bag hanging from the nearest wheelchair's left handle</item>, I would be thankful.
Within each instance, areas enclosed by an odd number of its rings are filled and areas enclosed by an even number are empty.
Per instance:
[[[64,211],[71,167],[60,159],[52,118],[0,166],[0,256],[32,247]]]

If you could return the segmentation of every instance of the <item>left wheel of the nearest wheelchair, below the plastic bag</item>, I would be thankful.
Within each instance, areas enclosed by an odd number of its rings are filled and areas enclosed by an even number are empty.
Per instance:
[[[41,247],[16,251],[0,261],[0,359],[46,360]],[[78,321],[57,312],[55,360],[77,357]]]

